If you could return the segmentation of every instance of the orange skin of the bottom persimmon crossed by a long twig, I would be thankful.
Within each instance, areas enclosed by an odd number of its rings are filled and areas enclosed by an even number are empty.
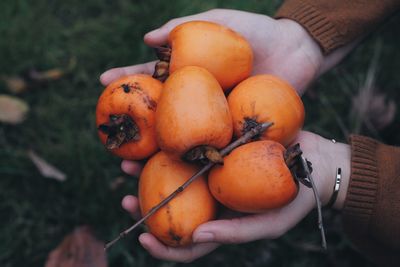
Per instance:
[[[139,179],[139,203],[142,215],[186,182],[199,168],[158,152],[146,163]],[[216,201],[204,176],[197,178],[183,192],[146,221],[154,236],[168,246],[192,243],[193,231],[215,218]]]

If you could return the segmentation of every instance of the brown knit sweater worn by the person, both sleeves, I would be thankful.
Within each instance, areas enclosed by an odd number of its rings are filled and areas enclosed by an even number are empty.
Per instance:
[[[277,18],[300,23],[325,54],[366,35],[400,0],[287,0]],[[400,266],[400,148],[352,136],[345,231],[378,266]]]

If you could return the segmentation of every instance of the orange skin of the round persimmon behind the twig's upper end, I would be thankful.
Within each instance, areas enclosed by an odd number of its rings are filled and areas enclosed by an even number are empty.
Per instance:
[[[228,96],[235,136],[243,134],[246,118],[273,122],[262,139],[287,146],[304,123],[304,106],[287,82],[272,75],[256,75],[238,84]]]

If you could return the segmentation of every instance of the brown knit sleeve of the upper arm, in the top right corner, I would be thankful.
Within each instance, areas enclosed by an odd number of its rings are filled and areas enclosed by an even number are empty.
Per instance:
[[[325,54],[370,32],[400,0],[286,0],[275,15],[300,23]]]

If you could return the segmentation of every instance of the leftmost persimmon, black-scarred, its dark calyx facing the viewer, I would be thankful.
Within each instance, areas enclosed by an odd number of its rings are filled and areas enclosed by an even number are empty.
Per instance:
[[[160,81],[135,74],[112,82],[103,91],[97,102],[96,126],[111,153],[139,160],[158,150],[154,120],[161,89]]]

